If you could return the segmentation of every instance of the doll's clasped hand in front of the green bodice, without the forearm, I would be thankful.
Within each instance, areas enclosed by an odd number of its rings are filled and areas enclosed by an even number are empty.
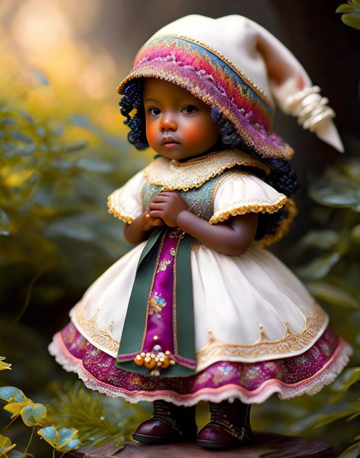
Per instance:
[[[188,210],[185,200],[174,191],[162,191],[151,199],[148,208],[151,218],[162,218],[170,227],[177,226],[177,215]]]

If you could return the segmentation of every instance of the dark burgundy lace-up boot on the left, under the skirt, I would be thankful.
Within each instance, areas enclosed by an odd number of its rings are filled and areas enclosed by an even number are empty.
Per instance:
[[[132,439],[146,444],[190,442],[196,438],[195,406],[177,406],[162,400],[153,402],[153,414],[141,423]]]

